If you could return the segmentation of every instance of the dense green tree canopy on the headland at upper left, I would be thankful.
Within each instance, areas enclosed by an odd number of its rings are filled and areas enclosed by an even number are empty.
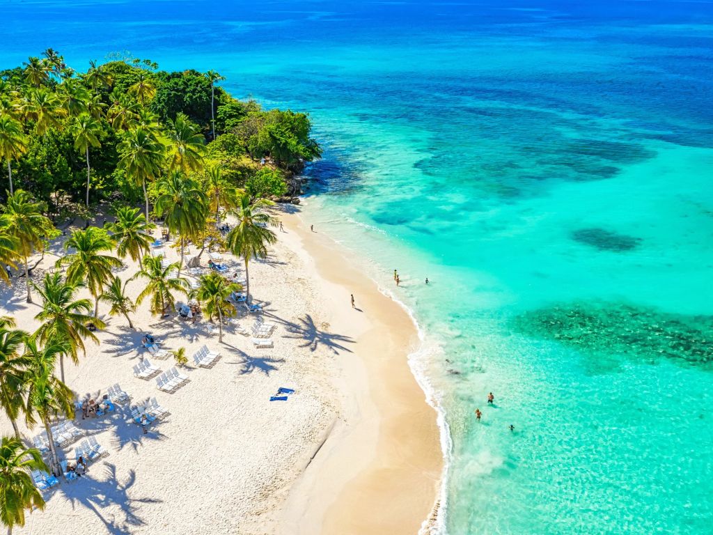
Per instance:
[[[113,195],[138,201],[143,188],[148,204],[150,183],[179,161],[199,182],[205,168],[220,166],[227,183],[254,197],[285,195],[292,173],[320,156],[309,117],[239,101],[216,85],[220,80],[214,71],[160,71],[138,59],[91,62],[80,73],[51,49],[0,71],[7,189],[29,191],[51,213]],[[165,161],[145,176],[126,157],[137,129],[146,146],[167,148]]]

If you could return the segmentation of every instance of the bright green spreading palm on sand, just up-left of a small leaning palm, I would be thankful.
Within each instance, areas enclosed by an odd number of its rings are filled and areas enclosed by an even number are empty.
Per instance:
[[[89,227],[86,230],[75,230],[64,243],[65,250],[74,249],[75,253],[57,260],[56,266],[67,265],[67,281],[77,284],[84,281],[95,300],[94,317],[99,316],[99,296],[104,285],[111,280],[112,268],[120,267],[121,260],[112,255],[102,255],[102,251],[111,251],[114,240],[106,230]],[[95,320],[96,325],[96,320]]]

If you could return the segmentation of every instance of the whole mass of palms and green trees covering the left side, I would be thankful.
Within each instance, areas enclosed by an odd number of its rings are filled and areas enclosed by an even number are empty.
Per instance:
[[[265,208],[299,193],[294,174],[320,156],[307,115],[232,98],[219,85],[224,79],[138,59],[91,61],[79,72],[53,49],[0,70],[0,165],[8,180],[0,194],[0,279],[24,278],[27,302],[39,296],[34,332],[0,317],[0,405],[14,429],[0,444],[0,521],[9,532],[24,525],[26,509],[44,506],[29,471],[61,473],[51,426],[73,417],[76,399],[65,360],[78,364],[86,343],[100,342],[100,303],[134,329],[131,315],[145,300],[163,316],[178,295],[190,295],[217,319],[222,342],[225,317],[235,314],[229,298],[242,287],[210,272],[189,292],[181,277],[186,245],[199,262],[216,245],[240,256],[250,299],[250,260],[264,258],[276,240]],[[103,226],[91,225],[97,215],[106,217]],[[85,227],[68,230],[77,217]],[[225,218],[237,219],[227,236]],[[152,254],[153,219],[175,237],[179,262]],[[57,243],[50,249],[60,235],[61,253]],[[32,280],[46,253],[59,258]],[[126,258],[138,271],[122,278]],[[171,354],[188,362],[183,347]],[[23,421],[44,428],[47,464],[22,445]]]

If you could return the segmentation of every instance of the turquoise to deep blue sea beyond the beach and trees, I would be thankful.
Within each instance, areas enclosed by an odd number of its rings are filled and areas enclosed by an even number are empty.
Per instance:
[[[444,532],[712,534],[713,4],[578,4],[0,1],[0,64],[312,113],[314,224],[424,333]]]

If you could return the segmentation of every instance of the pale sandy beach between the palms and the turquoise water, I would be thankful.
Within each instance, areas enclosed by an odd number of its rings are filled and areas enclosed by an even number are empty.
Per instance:
[[[275,347],[255,349],[235,325],[222,344],[207,320],[159,319],[148,302],[133,315],[100,315],[101,345],[88,343],[78,366],[65,362],[66,382],[80,397],[106,393],[118,382],[132,399],[106,417],[76,425],[109,455],[86,477],[46,492],[45,511],[28,516],[18,534],[416,534],[434,505],[441,474],[436,414],[411,375],[406,357],[417,343],[404,310],[354,269],[327,236],[309,233],[299,215],[283,215],[285,232],[265,262],[250,265],[251,293],[275,322]],[[158,235],[158,230],[155,231]],[[34,271],[39,282],[60,252],[53,243]],[[179,253],[166,248],[169,258]],[[243,273],[242,263],[225,263]],[[207,264],[207,253],[202,265]],[[128,278],[136,265],[120,272]],[[232,272],[232,269],[231,269]],[[142,282],[130,285],[130,295]],[[349,307],[354,292],[361,311]],[[33,331],[39,305],[25,302],[24,280],[4,287],[0,314]],[[34,296],[38,301],[39,297]],[[253,317],[237,317],[250,328]],[[190,381],[174,394],[155,379],[133,377],[148,356],[150,332],[162,348],[202,345],[221,353],[211,369],[180,369]],[[295,389],[270,402],[279,387]],[[148,434],[130,419],[129,405],[155,396],[170,415]],[[21,427],[26,439],[41,432]],[[0,431],[11,434],[2,417]],[[74,459],[73,447],[63,449]],[[388,500],[388,501],[387,501]]]

